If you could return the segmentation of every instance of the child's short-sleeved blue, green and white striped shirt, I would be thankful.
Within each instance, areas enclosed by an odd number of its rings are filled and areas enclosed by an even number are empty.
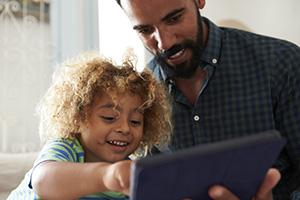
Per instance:
[[[59,161],[59,162],[84,162],[84,150],[79,141],[68,139],[57,139],[48,142],[42,149],[39,157],[34,163],[34,167],[25,175],[21,184],[10,194],[7,200],[34,200],[39,198],[31,187],[31,174],[32,170],[42,162],[45,161]],[[80,200],[128,200],[129,197],[120,192],[107,191],[97,194],[91,194]]]

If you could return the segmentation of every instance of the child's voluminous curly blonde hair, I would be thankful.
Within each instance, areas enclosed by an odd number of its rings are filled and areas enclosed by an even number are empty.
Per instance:
[[[141,152],[151,151],[154,144],[169,142],[172,125],[168,92],[150,70],[138,72],[136,61],[128,50],[121,66],[97,52],[81,54],[58,65],[53,82],[37,107],[42,141],[73,140],[82,126],[88,127],[95,99],[106,93],[117,105],[118,94],[130,92],[144,102],[144,132],[134,155],[141,157]]]

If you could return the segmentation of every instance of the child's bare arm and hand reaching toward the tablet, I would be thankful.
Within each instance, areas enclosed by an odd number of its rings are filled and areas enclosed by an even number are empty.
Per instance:
[[[77,199],[103,191],[118,191],[129,195],[132,162],[48,161],[33,171],[32,186],[43,199]]]

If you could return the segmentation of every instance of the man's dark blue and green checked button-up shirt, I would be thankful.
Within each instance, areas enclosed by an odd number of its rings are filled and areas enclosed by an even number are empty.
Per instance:
[[[174,98],[170,150],[277,129],[288,142],[274,164],[282,175],[274,199],[300,199],[300,48],[203,20],[207,75],[195,105],[155,60],[148,65]]]

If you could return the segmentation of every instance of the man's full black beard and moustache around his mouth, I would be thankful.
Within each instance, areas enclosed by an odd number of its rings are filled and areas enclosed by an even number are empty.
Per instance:
[[[201,61],[201,56],[203,53],[203,27],[202,27],[202,20],[200,17],[200,13],[197,17],[197,21],[198,21],[198,33],[197,33],[196,41],[185,40],[180,44],[175,44],[170,49],[165,50],[162,53],[156,54],[154,57],[154,59],[157,61],[158,64],[160,64],[160,66],[162,67],[166,75],[169,76],[170,78],[189,79],[194,74]],[[193,54],[191,59],[175,66],[169,65],[166,62],[166,59],[169,56],[172,56],[175,53],[179,52],[183,48],[185,48],[185,50],[187,49],[192,50]]]

